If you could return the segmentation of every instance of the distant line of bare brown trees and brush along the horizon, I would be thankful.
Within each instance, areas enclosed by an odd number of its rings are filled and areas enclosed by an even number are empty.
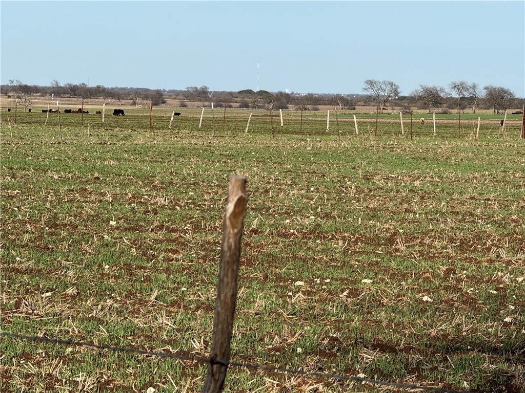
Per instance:
[[[374,81],[375,82],[375,81]],[[509,108],[521,108],[524,100],[514,97],[508,89],[486,86],[483,96],[458,97],[436,86],[421,86],[422,89],[410,95],[397,95],[385,102],[387,109],[395,111],[409,111],[417,107],[430,111],[458,111],[465,108],[492,109],[495,113]],[[319,106],[333,106],[338,110],[352,110],[356,105],[383,106],[381,96],[376,94],[328,94],[328,93],[285,93],[268,92],[265,90],[254,91],[251,89],[237,92],[210,91],[208,86],[190,86],[185,90],[147,89],[147,88],[108,88],[106,86],[88,86],[85,83],[66,83],[61,85],[57,81],[50,86],[37,86],[11,80],[9,84],[0,85],[0,93],[17,99],[22,106],[31,106],[31,97],[77,97],[83,99],[102,100],[131,100],[133,105],[139,102],[151,102],[153,106],[166,103],[166,99],[178,100],[184,107],[188,102],[199,102],[209,106],[213,102],[215,107],[240,107],[264,109],[295,109],[318,110]],[[432,103],[429,105],[428,93],[432,93]],[[426,95],[425,95],[426,94]],[[459,102],[458,102],[459,101]],[[459,105],[458,105],[459,103]]]

